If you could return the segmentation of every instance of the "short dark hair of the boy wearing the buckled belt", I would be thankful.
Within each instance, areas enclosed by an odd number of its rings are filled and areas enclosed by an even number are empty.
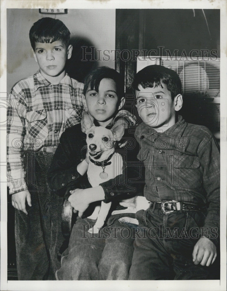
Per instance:
[[[181,94],[181,80],[177,72],[160,65],[150,65],[140,70],[132,82],[132,89],[139,91],[139,84],[145,88],[162,86],[161,82],[171,93],[172,100]]]

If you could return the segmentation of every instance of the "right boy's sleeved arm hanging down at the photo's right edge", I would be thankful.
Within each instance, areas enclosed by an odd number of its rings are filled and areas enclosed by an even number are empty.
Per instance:
[[[212,137],[198,150],[203,168],[203,187],[207,192],[208,210],[203,230],[205,233],[195,244],[193,262],[209,266],[216,258],[220,229],[220,154]]]

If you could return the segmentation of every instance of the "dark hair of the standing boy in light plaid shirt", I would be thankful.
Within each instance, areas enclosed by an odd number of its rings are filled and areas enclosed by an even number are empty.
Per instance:
[[[43,17],[33,24],[29,31],[29,38],[33,50],[35,42],[52,43],[56,40],[62,40],[68,47],[70,32],[61,20]]]

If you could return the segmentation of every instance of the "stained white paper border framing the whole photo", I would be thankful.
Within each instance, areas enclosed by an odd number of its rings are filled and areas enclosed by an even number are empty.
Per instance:
[[[91,7],[92,6],[92,7]],[[227,173],[227,1],[146,1],[146,0],[1,0],[1,59],[0,99],[6,97],[6,9],[10,8],[165,8],[165,9],[220,9],[221,17],[221,280],[210,281],[8,281],[7,282],[7,196],[6,196],[6,131],[0,132],[1,174],[1,290],[226,290],[226,173]],[[14,24],[16,25],[16,23]],[[1,119],[6,120],[6,110],[1,109]],[[0,123],[1,124],[1,123]]]

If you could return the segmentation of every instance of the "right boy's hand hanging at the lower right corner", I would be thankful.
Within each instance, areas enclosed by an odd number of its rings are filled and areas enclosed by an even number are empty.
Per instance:
[[[217,256],[214,243],[207,237],[201,237],[195,244],[192,258],[195,265],[209,266],[213,264]]]

